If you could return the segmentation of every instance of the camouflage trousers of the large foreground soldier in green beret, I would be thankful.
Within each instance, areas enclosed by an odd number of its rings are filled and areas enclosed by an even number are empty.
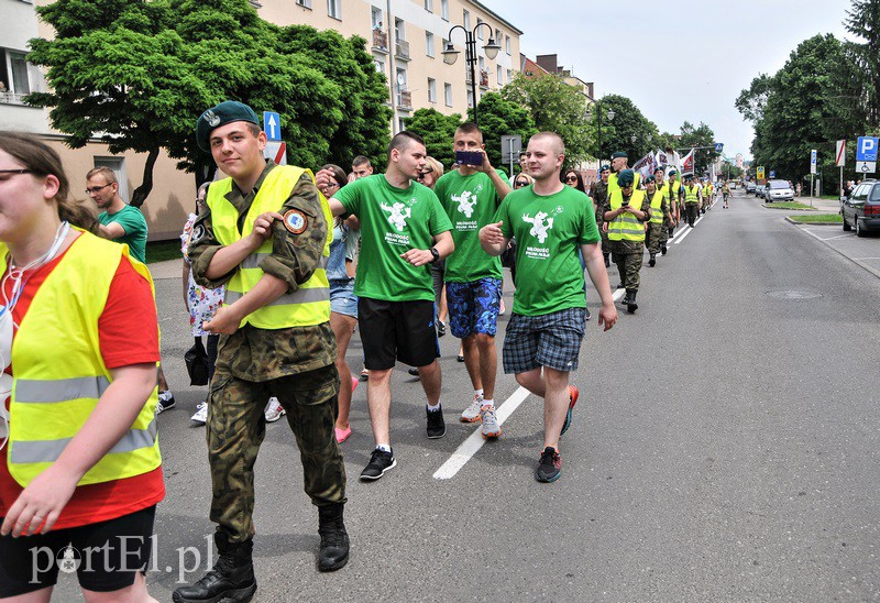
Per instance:
[[[339,373],[334,364],[265,382],[237,379],[221,365],[208,399],[211,522],[231,542],[253,537],[254,462],[266,435],[264,408],[275,396],[287,412],[316,506],[345,502],[345,465],[337,445]]]

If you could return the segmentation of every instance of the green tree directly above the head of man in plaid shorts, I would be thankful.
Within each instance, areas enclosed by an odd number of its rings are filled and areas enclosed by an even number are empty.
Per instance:
[[[535,128],[556,132],[565,143],[569,163],[590,157],[591,132],[586,97],[556,75],[529,77],[517,74],[502,88],[502,97],[529,110]]]

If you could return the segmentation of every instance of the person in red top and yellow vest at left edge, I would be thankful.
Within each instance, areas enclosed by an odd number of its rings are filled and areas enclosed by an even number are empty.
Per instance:
[[[165,496],[165,485],[155,423],[135,429],[139,421],[150,421],[156,401],[160,350],[152,283],[143,264],[130,260],[122,246],[105,248],[103,241],[82,230],[94,228],[95,218],[68,195],[68,180],[55,151],[32,135],[0,132],[0,362],[4,368],[0,382],[0,599],[48,601],[58,574],[56,557],[77,559],[79,555],[77,573],[87,601],[154,601],[146,591],[144,571],[155,507]],[[105,254],[84,254],[96,249]],[[68,283],[85,278],[72,273],[82,265],[109,283],[102,306],[89,295],[68,293]],[[62,278],[65,286],[57,285]],[[43,298],[51,295],[61,302],[55,308],[65,308],[59,315],[85,318],[72,321],[53,340],[33,341],[29,333],[44,335],[46,325],[54,324],[41,316],[47,309]],[[88,332],[90,311],[98,315],[94,341],[82,335]],[[29,313],[36,315],[31,324]],[[34,324],[37,317],[41,322]],[[94,396],[79,396],[94,407],[82,399],[72,406],[68,397],[57,399],[58,404],[23,404],[55,402],[52,385],[62,381],[53,380],[64,375],[52,375],[52,364],[29,365],[26,360],[33,355],[22,350],[44,350],[45,357],[55,359],[68,352],[74,355],[76,344],[75,353],[84,355],[84,341],[91,347],[92,365],[99,366],[91,369],[96,377],[84,379],[103,383]],[[80,362],[62,360],[56,365],[79,368]],[[25,399],[24,375],[36,377],[40,371],[50,373],[47,381],[28,383],[36,398],[45,399]],[[10,396],[13,379],[18,384],[14,399]],[[43,383],[48,385],[41,388]],[[28,421],[34,416],[45,420],[62,407],[67,413],[64,420],[81,416],[82,421],[73,437],[58,440],[63,446],[53,460],[16,458],[22,445],[31,445],[31,450],[44,446],[38,439],[29,440],[33,426]],[[40,425],[41,438],[50,438],[50,428]],[[129,441],[138,443],[127,448]],[[34,469],[29,462],[46,467]],[[143,471],[132,474],[132,467]],[[114,479],[119,473],[125,475]]]

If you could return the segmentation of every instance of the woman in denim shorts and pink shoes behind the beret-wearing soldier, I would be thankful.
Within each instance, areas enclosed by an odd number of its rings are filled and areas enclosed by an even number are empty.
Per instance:
[[[321,169],[329,169],[333,178],[327,183],[321,193],[328,199],[349,183],[345,171],[338,165],[328,164]],[[330,257],[327,262],[327,278],[330,281],[330,327],[337,337],[337,370],[339,371],[339,415],[337,416],[337,441],[342,443],[351,436],[349,412],[351,396],[358,387],[358,379],[351,376],[351,368],[345,361],[351,336],[358,326],[358,297],[354,295],[354,260],[358,256],[358,243],[361,231],[355,218],[333,220],[333,242],[330,243]]]

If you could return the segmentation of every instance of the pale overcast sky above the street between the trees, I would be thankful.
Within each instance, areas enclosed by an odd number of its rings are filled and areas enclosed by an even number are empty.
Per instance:
[[[751,157],[751,124],[734,107],[760,73],[774,74],[817,33],[844,39],[849,0],[481,0],[525,32],[520,52],[617,94],[660,131],[708,124],[725,155]]]

